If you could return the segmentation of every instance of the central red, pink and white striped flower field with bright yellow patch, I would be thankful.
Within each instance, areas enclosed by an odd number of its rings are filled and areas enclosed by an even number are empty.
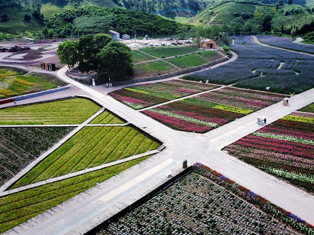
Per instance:
[[[280,94],[226,87],[143,113],[177,130],[204,133],[272,105],[283,97]]]

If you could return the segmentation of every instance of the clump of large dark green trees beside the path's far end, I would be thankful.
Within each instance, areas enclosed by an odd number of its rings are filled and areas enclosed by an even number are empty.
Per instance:
[[[108,34],[85,35],[77,41],[64,41],[57,49],[60,62],[79,71],[95,69],[113,79],[133,75],[131,49],[112,40]]]

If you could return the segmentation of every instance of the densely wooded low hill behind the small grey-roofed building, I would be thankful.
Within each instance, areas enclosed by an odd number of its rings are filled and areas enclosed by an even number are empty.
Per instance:
[[[102,33],[114,29],[120,34],[156,35],[173,34],[182,24],[164,17],[136,12],[123,8],[103,8],[97,6],[78,7],[64,10],[46,19],[48,29],[58,37],[71,33]]]

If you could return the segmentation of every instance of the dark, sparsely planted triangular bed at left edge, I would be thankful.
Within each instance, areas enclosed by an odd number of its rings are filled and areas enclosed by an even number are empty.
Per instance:
[[[72,127],[1,127],[0,186],[72,129]]]

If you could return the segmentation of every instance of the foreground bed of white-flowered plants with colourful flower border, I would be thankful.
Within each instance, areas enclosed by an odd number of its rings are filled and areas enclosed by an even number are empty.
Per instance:
[[[196,163],[192,172],[98,235],[313,235],[314,229],[231,179]]]

